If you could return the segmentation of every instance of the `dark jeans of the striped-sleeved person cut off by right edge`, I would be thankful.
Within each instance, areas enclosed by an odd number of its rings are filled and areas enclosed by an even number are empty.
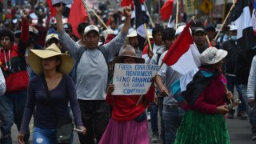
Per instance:
[[[248,98],[246,95],[247,92],[247,86],[241,85],[242,88],[242,94],[245,95],[245,101],[246,101],[246,106],[247,106],[247,111],[249,115],[249,120],[250,120],[250,126],[251,126],[251,133],[256,134],[256,106],[248,106]]]

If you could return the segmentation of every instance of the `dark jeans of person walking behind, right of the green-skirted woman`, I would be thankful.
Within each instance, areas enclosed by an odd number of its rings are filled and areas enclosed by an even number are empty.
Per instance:
[[[240,86],[240,84],[238,84],[237,78],[226,75],[226,81],[227,81],[227,89],[228,90],[230,90],[234,94],[234,86],[236,86],[236,89],[238,91],[238,97],[241,100],[241,104],[238,105],[238,112],[246,112],[246,102],[242,96],[241,86]],[[233,113],[234,113],[234,111],[233,111]]]

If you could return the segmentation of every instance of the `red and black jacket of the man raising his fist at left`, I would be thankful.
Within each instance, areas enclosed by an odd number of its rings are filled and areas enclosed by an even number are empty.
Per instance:
[[[9,50],[0,50],[0,66],[6,78],[6,92],[26,90],[29,76],[26,71],[25,51],[22,43],[29,40],[29,23],[22,23],[22,34],[17,45],[10,46]],[[7,66],[6,66],[7,64]]]

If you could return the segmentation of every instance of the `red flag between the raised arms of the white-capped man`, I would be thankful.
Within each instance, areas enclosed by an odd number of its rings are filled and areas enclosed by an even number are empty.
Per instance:
[[[78,34],[78,25],[81,22],[86,22],[87,18],[88,15],[82,0],[74,0],[74,3],[70,7],[70,16],[68,22],[72,26],[73,34],[76,37],[80,38],[80,35]]]

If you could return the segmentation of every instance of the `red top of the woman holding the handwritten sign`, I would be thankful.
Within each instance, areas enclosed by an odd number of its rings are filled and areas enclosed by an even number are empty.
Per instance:
[[[146,110],[142,100],[135,106],[139,97],[140,95],[106,95],[106,102],[113,105],[112,118],[118,122],[126,122],[142,114]],[[146,101],[154,101],[154,86],[146,93]]]

